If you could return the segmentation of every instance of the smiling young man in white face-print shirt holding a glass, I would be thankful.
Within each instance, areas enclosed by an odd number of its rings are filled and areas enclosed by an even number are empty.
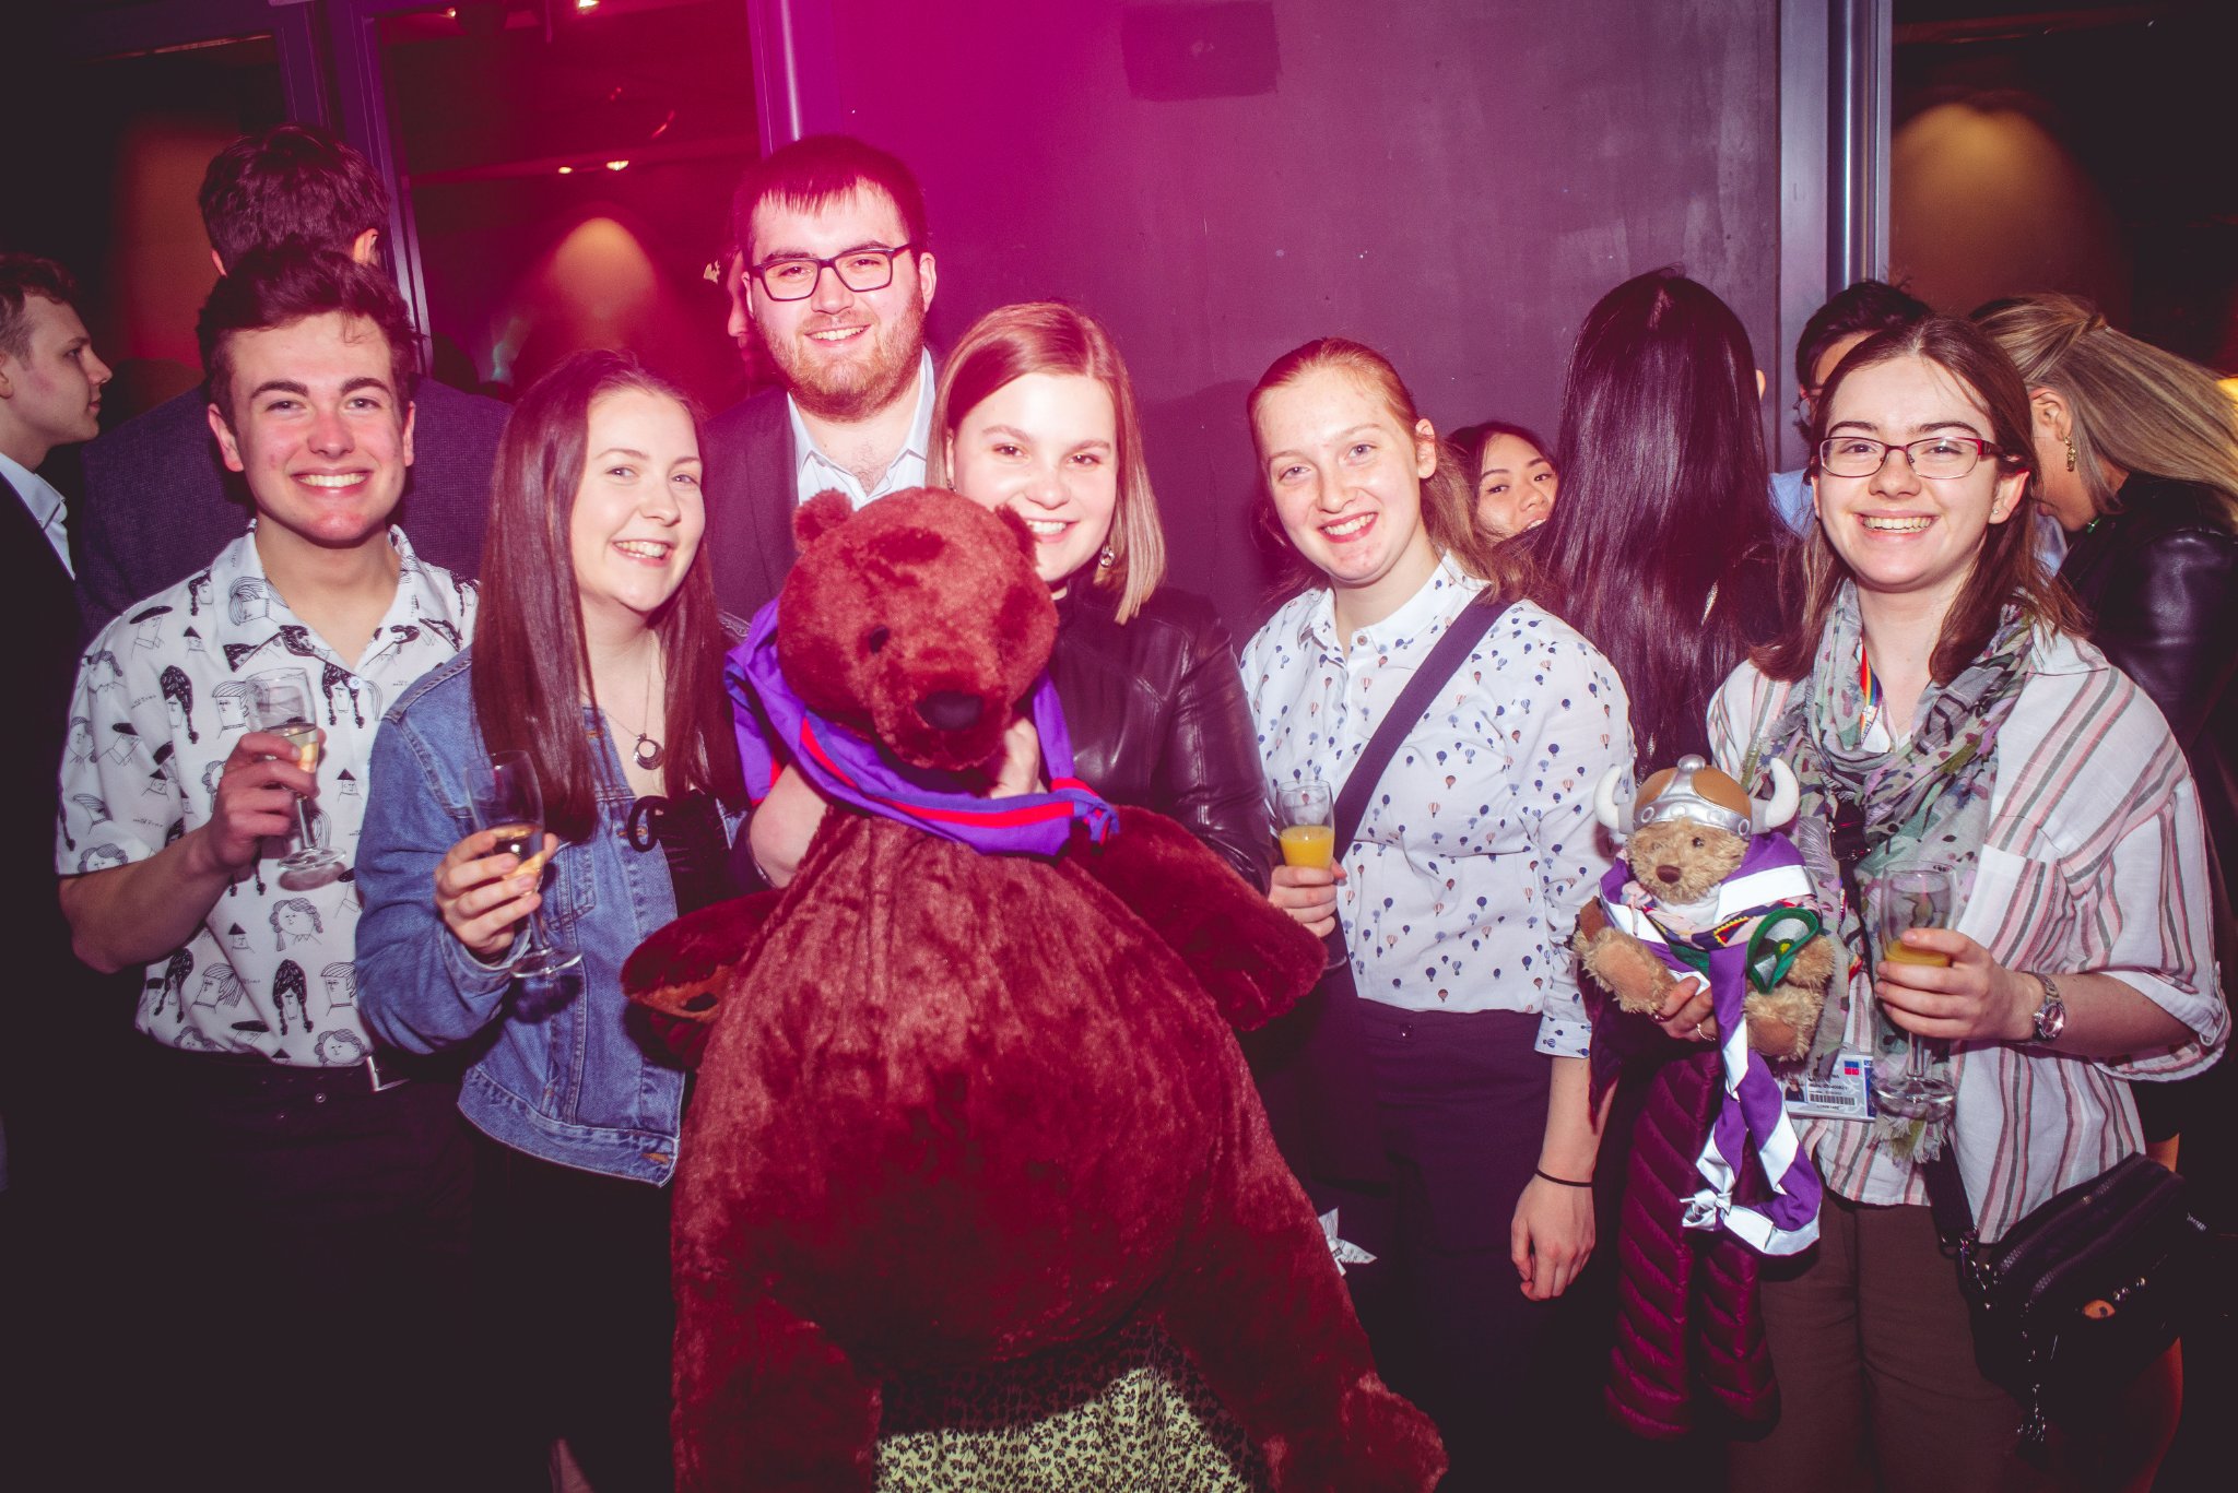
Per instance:
[[[383,275],[253,255],[210,293],[201,345],[210,430],[257,517],[87,647],[56,842],[78,956],[145,967],[152,1041],[125,1095],[166,1392],[137,1415],[175,1433],[150,1437],[175,1484],[466,1486],[443,1419],[466,1397],[439,1388],[463,1356],[457,1081],[398,1083],[354,980],[327,971],[358,922],[365,801],[342,779],[365,777],[385,701],[466,645],[474,591],[387,522],[412,463],[412,327]],[[289,674],[316,757],[244,710],[239,685]],[[280,864],[298,799],[340,855],[325,875]]]

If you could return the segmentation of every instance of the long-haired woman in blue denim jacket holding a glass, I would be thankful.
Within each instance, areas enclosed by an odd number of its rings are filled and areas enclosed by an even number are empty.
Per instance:
[[[602,1489],[671,1477],[662,1189],[685,1101],[620,969],[732,891],[745,797],[698,477],[689,403],[627,354],[573,354],[521,396],[479,633],[383,721],[358,851],[367,1021],[410,1052],[474,1052],[459,1108],[492,1142],[481,1251],[510,1307],[492,1390]],[[551,833],[526,862],[468,810],[499,752],[524,752],[544,792]],[[508,954],[537,909],[582,963],[517,980]]]

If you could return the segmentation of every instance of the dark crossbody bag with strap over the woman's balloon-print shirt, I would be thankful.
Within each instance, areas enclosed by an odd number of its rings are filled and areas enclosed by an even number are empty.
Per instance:
[[[1506,600],[1461,609],[1408,678],[1405,689],[1376,723],[1336,797],[1336,860],[1352,853],[1367,801],[1399,743],[1430,710],[1470,649],[1491,633]],[[1329,931],[1329,965],[1296,1007],[1238,1043],[1267,1110],[1276,1148],[1298,1175],[1314,1211],[1336,1209],[1343,1238],[1370,1253],[1392,1247],[1392,1175],[1376,1121],[1374,1077],[1367,1072],[1367,1030],[1361,994],[1352,985],[1345,929]],[[1347,1276],[1350,1278],[1350,1276]]]

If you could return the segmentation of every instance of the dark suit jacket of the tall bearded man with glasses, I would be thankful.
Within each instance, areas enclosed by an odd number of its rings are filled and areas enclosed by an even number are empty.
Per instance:
[[[747,622],[786,584],[799,546],[792,416],[786,389],[763,389],[707,421],[707,555],[714,600]]]

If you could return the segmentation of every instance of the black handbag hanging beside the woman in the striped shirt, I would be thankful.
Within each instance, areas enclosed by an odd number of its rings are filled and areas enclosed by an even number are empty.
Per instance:
[[[2052,1421],[2104,1415],[2184,1334],[2202,1300],[2207,1224],[2184,1204],[2182,1177],[2131,1155],[1985,1245],[1952,1148],[1925,1173],[1945,1247],[1965,1220],[1958,1289],[1974,1361],[2021,1401],[2021,1455],[2041,1462]]]

